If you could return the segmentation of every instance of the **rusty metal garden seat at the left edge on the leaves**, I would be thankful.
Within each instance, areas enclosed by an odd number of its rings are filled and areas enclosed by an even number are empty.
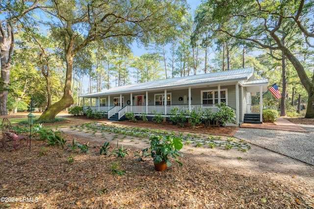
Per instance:
[[[7,118],[3,118],[1,123],[2,131],[2,147],[4,147],[4,139],[9,139],[12,141],[14,150],[17,150],[19,146],[23,145],[23,141],[26,141],[26,146],[28,145],[27,135],[17,135],[14,133],[12,124]]]

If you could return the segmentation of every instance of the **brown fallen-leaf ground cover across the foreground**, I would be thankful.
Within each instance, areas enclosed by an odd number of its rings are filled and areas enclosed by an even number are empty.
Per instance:
[[[88,140],[88,139],[86,139]],[[86,141],[79,141],[85,143]],[[313,190],[267,175],[239,172],[197,160],[180,158],[157,172],[146,158],[137,161],[99,155],[101,144],[90,143],[88,155],[32,140],[31,151],[1,149],[0,197],[32,197],[32,202],[0,203],[8,208],[312,208]],[[47,153],[40,156],[40,148]],[[96,148],[97,147],[97,148]],[[74,156],[68,163],[67,157]],[[119,161],[122,176],[112,175],[110,162]]]

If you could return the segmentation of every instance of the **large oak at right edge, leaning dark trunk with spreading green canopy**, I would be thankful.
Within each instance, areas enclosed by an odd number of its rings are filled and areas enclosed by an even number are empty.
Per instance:
[[[285,42],[297,30],[303,35],[303,45],[313,47],[313,10],[313,0],[208,0],[195,19],[196,31],[207,27],[262,49],[282,51],[308,93],[305,117],[314,118],[314,75],[308,76],[298,53]]]

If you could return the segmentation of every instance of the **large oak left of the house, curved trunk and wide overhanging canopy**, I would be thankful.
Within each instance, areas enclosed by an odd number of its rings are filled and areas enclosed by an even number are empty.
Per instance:
[[[71,93],[74,56],[96,40],[148,43],[172,27],[185,12],[184,0],[52,0],[46,10],[58,19],[52,33],[60,41],[67,65],[63,97],[49,106],[39,120],[53,120],[73,104]]]

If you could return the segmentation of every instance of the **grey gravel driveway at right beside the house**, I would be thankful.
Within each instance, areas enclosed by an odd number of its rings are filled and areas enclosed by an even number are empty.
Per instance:
[[[240,128],[235,137],[314,165],[314,125],[298,125],[309,132]]]

